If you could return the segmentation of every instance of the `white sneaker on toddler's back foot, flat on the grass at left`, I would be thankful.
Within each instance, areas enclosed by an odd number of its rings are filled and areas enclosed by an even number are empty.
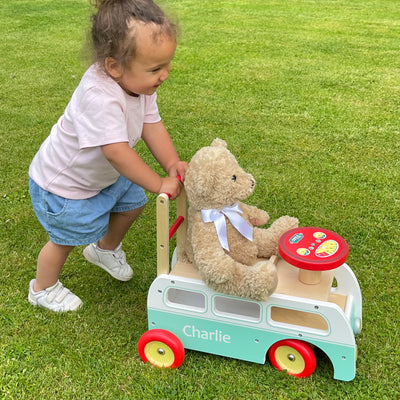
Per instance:
[[[82,300],[65,288],[60,281],[57,281],[53,286],[47,289],[35,292],[33,284],[35,279],[32,279],[29,284],[29,303],[34,306],[40,306],[52,311],[76,311],[81,305]]]

